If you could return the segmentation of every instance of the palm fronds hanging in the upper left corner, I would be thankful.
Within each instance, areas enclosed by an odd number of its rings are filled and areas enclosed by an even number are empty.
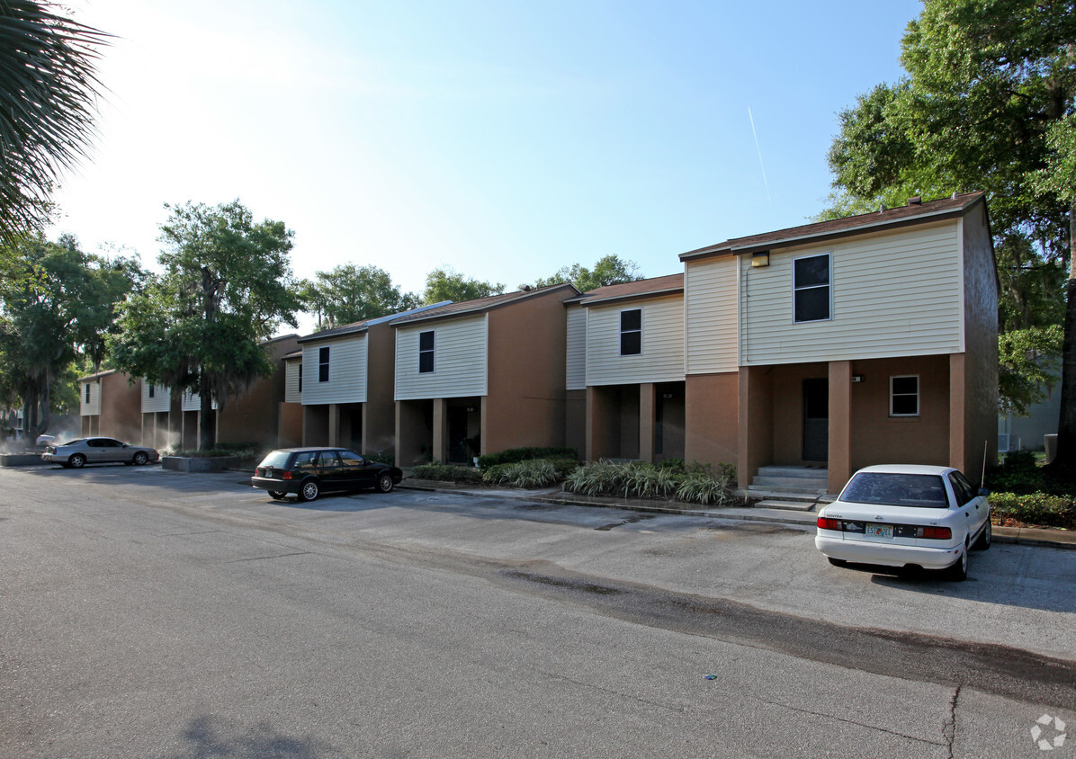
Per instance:
[[[99,49],[109,35],[48,2],[0,2],[0,241],[40,229],[62,169],[94,133]]]

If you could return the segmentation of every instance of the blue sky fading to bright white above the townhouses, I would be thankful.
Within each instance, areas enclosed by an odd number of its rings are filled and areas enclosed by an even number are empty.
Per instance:
[[[53,234],[152,264],[164,203],[239,198],[295,231],[297,275],[372,263],[411,291],[442,266],[513,289],[607,254],[661,276],[684,250],[802,224],[830,191],[837,112],[901,75],[900,40],[921,10],[72,8],[118,39],[101,63],[97,146],[60,188]]]

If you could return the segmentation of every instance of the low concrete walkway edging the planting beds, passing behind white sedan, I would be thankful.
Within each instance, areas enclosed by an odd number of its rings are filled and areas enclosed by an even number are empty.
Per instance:
[[[523,490],[515,488],[492,488],[475,485],[442,483],[433,479],[407,477],[399,487],[412,490],[440,490],[484,498],[502,498],[515,501],[540,501],[572,506],[600,506],[605,509],[627,509],[637,512],[659,514],[684,514],[718,519],[742,519],[746,521],[773,521],[783,525],[815,527],[818,515],[815,512],[790,511],[752,506],[703,506],[697,503],[679,501],[653,501],[639,498],[609,498],[604,496],[578,496],[565,492],[560,486]],[[1076,549],[1076,531],[1051,530],[1032,527],[994,527],[993,539],[999,543],[1020,545],[1042,545],[1051,548]]]

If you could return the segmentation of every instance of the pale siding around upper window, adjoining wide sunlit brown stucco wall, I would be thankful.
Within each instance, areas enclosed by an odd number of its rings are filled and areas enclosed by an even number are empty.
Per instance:
[[[486,395],[484,314],[396,329],[396,400]],[[434,371],[419,372],[419,334],[434,331]]]

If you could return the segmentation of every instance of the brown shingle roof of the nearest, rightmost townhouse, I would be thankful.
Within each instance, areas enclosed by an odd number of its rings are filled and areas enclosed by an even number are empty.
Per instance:
[[[680,260],[702,258],[717,254],[746,254],[766,248],[781,247],[802,243],[809,239],[827,239],[848,234],[860,234],[866,231],[886,227],[905,226],[925,223],[937,218],[958,216],[972,205],[982,200],[982,192],[965,192],[952,198],[932,200],[925,203],[908,203],[897,209],[886,209],[859,216],[846,216],[832,221],[817,221],[799,227],[789,227],[765,234],[754,234],[746,238],[733,238],[716,245],[708,245],[696,250],[680,254]]]

